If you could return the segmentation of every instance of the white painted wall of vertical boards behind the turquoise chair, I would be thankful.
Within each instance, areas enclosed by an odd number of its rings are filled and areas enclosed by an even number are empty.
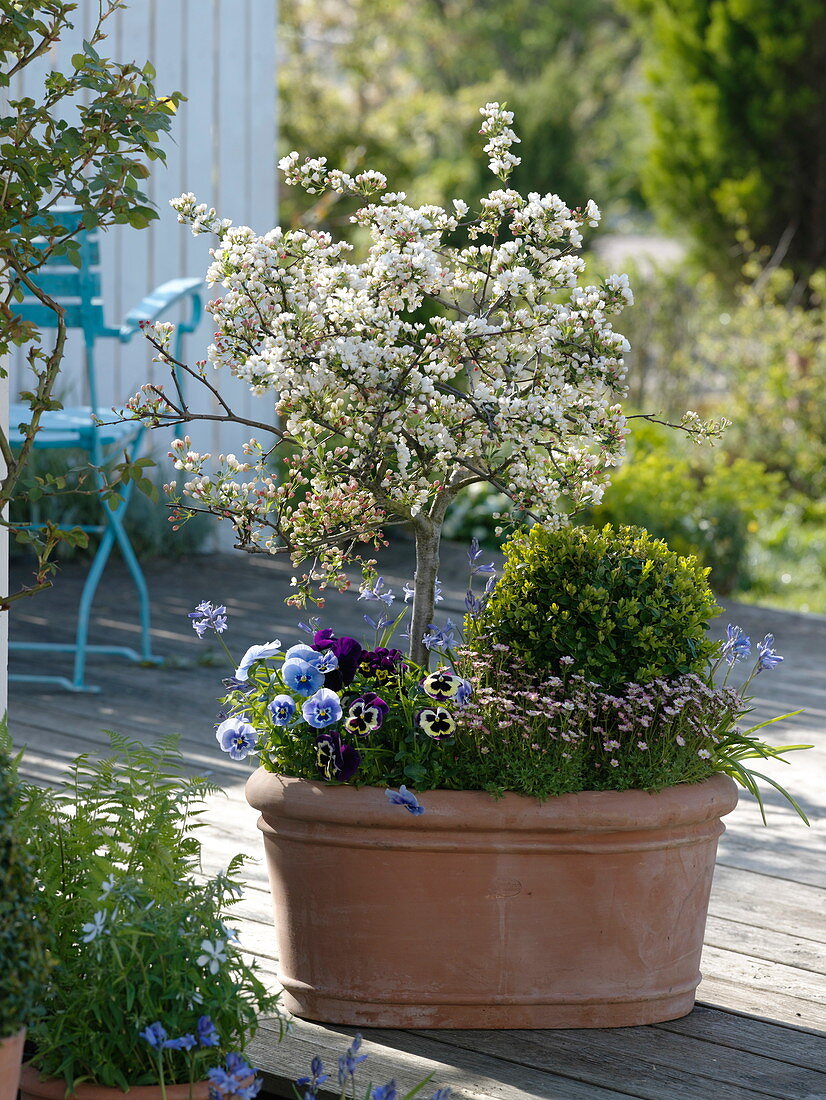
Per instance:
[[[73,53],[95,23],[97,0],[79,0],[75,30],[43,59],[20,74],[11,98],[25,95],[51,68],[68,66]],[[257,231],[276,222],[276,28],[277,0],[128,0],[108,21],[101,55],[156,69],[158,94],[179,90],[188,97],[172,123],[164,145],[166,166],[155,162],[147,182],[159,221],[145,230],[118,227],[102,239],[103,298],[109,323],[118,322],[144,294],[178,275],[202,276],[211,239],[194,238],[179,226],[168,200],[194,191],[221,217]],[[172,139],[172,140],[170,140]],[[214,292],[217,293],[217,292]],[[175,318],[170,318],[175,319]],[[190,337],[187,360],[206,356],[210,319]],[[107,354],[108,351],[108,354]],[[165,381],[142,338],[121,346],[117,341],[96,352],[100,403],[121,406],[144,382]],[[268,417],[273,402],[253,398],[229,376],[220,381],[231,404],[244,416]],[[11,389],[26,387],[25,364],[12,367]],[[73,340],[58,382],[64,403],[82,403],[79,342]],[[190,431],[203,450],[236,451],[249,435],[224,426]],[[159,458],[169,433],[154,433],[150,446]]]

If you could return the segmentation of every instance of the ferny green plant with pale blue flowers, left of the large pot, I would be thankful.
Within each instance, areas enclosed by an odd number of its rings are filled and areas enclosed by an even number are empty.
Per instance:
[[[227,924],[243,860],[205,880],[194,828],[212,788],[185,778],[174,740],[111,737],[109,758],[79,757],[21,805],[57,963],[33,1065],[69,1087],[203,1081],[277,1008]]]

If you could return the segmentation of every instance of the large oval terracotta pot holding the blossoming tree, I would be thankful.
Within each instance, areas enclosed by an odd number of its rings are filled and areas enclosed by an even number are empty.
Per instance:
[[[727,776],[643,791],[429,791],[260,768],[285,1008],[378,1027],[626,1027],[691,1011]]]

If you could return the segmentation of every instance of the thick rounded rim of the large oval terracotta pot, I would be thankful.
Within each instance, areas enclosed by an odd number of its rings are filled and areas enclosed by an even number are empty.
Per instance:
[[[268,815],[308,822],[396,828],[409,832],[461,829],[624,832],[719,818],[737,805],[735,781],[718,772],[698,783],[661,791],[579,791],[540,802],[507,792],[425,791],[421,816],[392,805],[385,788],[330,785],[258,768],[246,782],[246,800]]]

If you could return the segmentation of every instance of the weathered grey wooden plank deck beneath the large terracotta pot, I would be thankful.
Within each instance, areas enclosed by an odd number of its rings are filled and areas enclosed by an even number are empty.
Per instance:
[[[442,575],[448,609],[459,609],[464,588],[462,552],[450,552]],[[393,548],[384,562],[393,581],[406,580],[408,548]],[[200,600],[225,603],[232,651],[279,637],[300,640],[295,615],[284,606],[289,566],[280,561],[224,554],[148,566],[159,669],[113,658],[96,659],[90,679],[99,695],[41,691],[12,683],[10,717],[18,745],[27,746],[24,772],[40,782],[60,774],[68,760],[106,744],[103,729],[152,739],[178,733],[198,771],[227,789],[209,810],[205,831],[208,869],[243,850],[249,889],[240,906],[242,942],[258,956],[276,985],[274,936],[266,876],[260,857],[255,813],[243,798],[249,769],[222,757],[213,738],[214,700],[224,675],[217,646],[199,641],[186,613]],[[70,640],[82,571],[66,568],[56,588],[12,615],[18,640]],[[449,606],[450,605],[450,606]],[[110,566],[96,603],[93,641],[129,645],[134,639],[135,601],[125,574]],[[334,595],[327,625],[355,631],[361,609],[352,596]],[[752,637],[772,631],[786,660],[761,675],[758,716],[800,706],[805,714],[777,728],[788,744],[816,748],[795,755],[772,774],[800,798],[807,829],[777,796],[768,795],[769,827],[744,796],[727,818],[703,958],[697,1009],[686,1019],[616,1031],[449,1032],[364,1030],[370,1052],[367,1080],[395,1077],[409,1088],[432,1074],[432,1088],[449,1085],[477,1100],[519,1097],[554,1100],[826,1100],[826,617],[751,607],[730,607],[720,620],[737,622]],[[34,671],[37,659],[15,653],[11,671]],[[68,669],[62,659],[53,667]],[[352,1030],[295,1021],[280,1044],[266,1023],[254,1045],[273,1096],[293,1096],[291,1080],[318,1053],[335,1058]],[[365,1067],[366,1068],[366,1067]],[[333,1094],[333,1093],[330,1093]],[[338,1093],[334,1093],[338,1094]],[[423,1093],[428,1096],[426,1091]]]

